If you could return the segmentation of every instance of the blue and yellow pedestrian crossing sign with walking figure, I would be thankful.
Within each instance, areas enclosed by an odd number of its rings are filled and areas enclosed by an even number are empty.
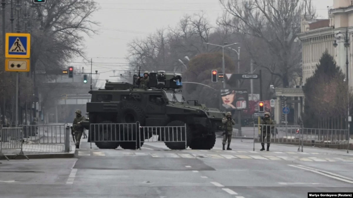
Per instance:
[[[28,33],[6,33],[5,57],[30,58],[31,35]]]

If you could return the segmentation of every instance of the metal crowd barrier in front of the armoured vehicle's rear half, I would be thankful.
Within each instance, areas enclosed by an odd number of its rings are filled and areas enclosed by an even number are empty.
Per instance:
[[[138,125],[139,122],[90,124],[91,148],[92,142],[134,142],[137,149]]]

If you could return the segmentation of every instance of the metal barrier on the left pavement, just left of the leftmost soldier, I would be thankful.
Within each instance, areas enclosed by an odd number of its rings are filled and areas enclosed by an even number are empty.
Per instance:
[[[67,125],[23,125],[24,140],[34,144],[64,144]]]

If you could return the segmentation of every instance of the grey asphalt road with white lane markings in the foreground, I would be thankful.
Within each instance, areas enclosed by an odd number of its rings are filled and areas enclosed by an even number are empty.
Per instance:
[[[2,161],[0,197],[303,198],[353,189],[353,155],[341,150],[256,144],[253,151],[250,140],[235,139],[222,151],[220,138],[210,151],[89,146],[82,142],[73,159]]]

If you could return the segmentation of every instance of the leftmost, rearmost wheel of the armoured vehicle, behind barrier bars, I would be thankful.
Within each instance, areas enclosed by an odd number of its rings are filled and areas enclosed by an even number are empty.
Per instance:
[[[110,124],[110,123],[112,123],[112,122],[110,122],[110,121],[101,122],[101,124]],[[95,142],[95,144],[98,148],[100,148],[100,149],[116,149],[119,147],[119,142],[111,142],[111,140],[115,140],[115,134],[111,133],[111,131],[114,131],[114,129],[112,129],[112,126],[110,126],[110,125],[99,126],[99,131],[100,131],[100,133],[94,137],[94,140],[97,138],[99,141],[107,140],[107,142]],[[91,135],[94,135],[94,133],[92,132]]]

